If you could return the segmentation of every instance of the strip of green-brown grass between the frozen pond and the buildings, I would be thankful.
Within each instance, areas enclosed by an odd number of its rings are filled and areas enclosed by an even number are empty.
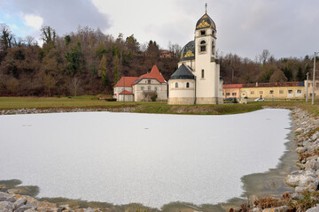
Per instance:
[[[107,102],[98,100],[94,95],[70,97],[0,97],[0,110],[12,109],[51,109],[51,108],[121,108],[135,107],[139,113],[166,113],[166,114],[237,114],[261,110],[263,106],[293,108],[300,107],[319,117],[319,100],[315,105],[305,101],[282,102],[249,102],[248,104],[219,104],[219,105],[167,105],[167,102]]]

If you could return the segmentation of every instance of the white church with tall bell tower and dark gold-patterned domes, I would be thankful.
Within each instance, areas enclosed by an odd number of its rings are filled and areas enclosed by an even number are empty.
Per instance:
[[[222,104],[216,25],[207,12],[198,19],[194,41],[182,49],[178,69],[168,80],[168,104]]]

